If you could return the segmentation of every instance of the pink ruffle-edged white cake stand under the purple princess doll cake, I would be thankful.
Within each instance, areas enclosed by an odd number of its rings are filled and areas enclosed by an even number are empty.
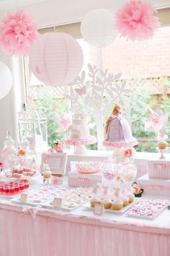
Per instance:
[[[119,142],[109,142],[104,140],[103,145],[109,148],[115,148],[113,155],[117,157],[122,157],[122,149],[125,147],[133,147],[138,145],[137,140],[119,141]]]

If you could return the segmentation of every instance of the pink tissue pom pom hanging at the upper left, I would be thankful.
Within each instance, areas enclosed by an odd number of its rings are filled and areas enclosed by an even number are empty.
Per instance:
[[[8,14],[0,24],[0,45],[10,55],[29,54],[37,35],[36,22],[23,11]]]

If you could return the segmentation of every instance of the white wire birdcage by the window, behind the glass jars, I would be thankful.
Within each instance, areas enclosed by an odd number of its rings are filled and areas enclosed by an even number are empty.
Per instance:
[[[30,142],[30,150],[38,150],[48,147],[47,119],[39,109],[27,109],[18,114],[19,140],[22,136]]]

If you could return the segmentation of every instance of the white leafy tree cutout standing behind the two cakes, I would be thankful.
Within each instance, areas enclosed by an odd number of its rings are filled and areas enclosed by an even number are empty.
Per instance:
[[[95,116],[97,137],[104,140],[103,115],[109,115],[112,106],[119,103],[123,95],[131,90],[126,88],[125,80],[120,80],[121,73],[114,75],[109,73],[108,69],[103,71],[91,64],[88,69],[88,72],[81,72],[76,80],[69,84],[70,95],[64,96],[71,101],[70,111]],[[98,142],[98,149],[102,149],[102,142]]]

